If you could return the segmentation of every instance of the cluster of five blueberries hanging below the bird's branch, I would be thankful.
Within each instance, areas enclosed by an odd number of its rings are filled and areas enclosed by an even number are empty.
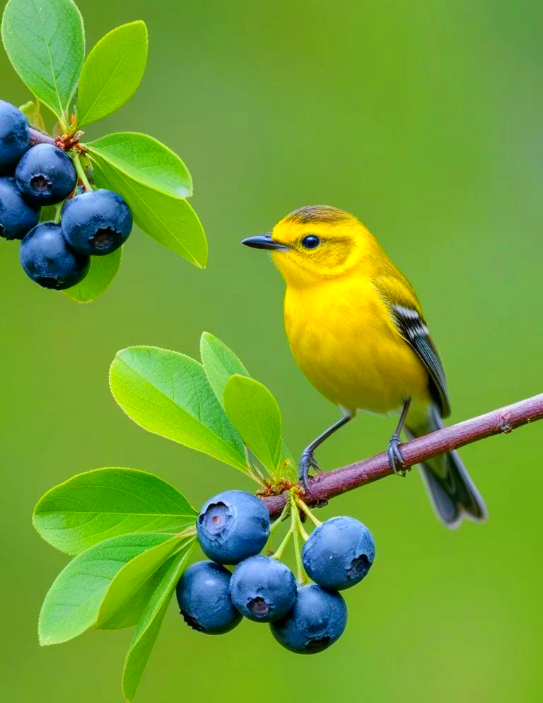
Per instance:
[[[370,531],[349,517],[317,527],[302,553],[311,584],[296,583],[286,564],[260,554],[269,531],[269,513],[256,496],[226,491],[207,501],[197,533],[211,561],[192,564],[177,583],[181,614],[190,627],[207,634],[229,632],[242,617],[268,622],[286,649],[323,651],[345,629],[347,610],[339,591],[361,581],[373,564]],[[235,565],[234,571],[226,565]]]

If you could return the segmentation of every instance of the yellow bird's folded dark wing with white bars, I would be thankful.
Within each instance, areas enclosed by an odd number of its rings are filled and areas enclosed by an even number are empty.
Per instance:
[[[398,332],[426,366],[430,376],[430,393],[440,409],[441,417],[448,417],[450,402],[445,371],[411,284],[400,274],[399,278],[379,277],[375,281],[375,286],[387,303],[392,322]]]

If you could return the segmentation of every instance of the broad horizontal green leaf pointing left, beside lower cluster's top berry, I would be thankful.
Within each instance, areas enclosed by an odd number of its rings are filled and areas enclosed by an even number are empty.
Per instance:
[[[33,524],[57,550],[80,554],[116,535],[178,533],[196,516],[185,496],[158,476],[115,467],[87,471],[52,488],[37,502]]]

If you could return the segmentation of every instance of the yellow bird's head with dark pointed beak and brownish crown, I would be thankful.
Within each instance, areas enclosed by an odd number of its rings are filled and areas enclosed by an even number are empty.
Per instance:
[[[373,237],[353,215],[328,205],[308,205],[284,217],[271,232],[243,244],[271,251],[287,284],[312,285],[356,267]]]

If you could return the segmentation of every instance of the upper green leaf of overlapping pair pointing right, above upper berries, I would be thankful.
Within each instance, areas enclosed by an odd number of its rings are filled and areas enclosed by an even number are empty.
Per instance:
[[[85,144],[85,148],[127,178],[152,190],[175,198],[192,195],[192,178],[185,164],[152,136],[116,132]]]

